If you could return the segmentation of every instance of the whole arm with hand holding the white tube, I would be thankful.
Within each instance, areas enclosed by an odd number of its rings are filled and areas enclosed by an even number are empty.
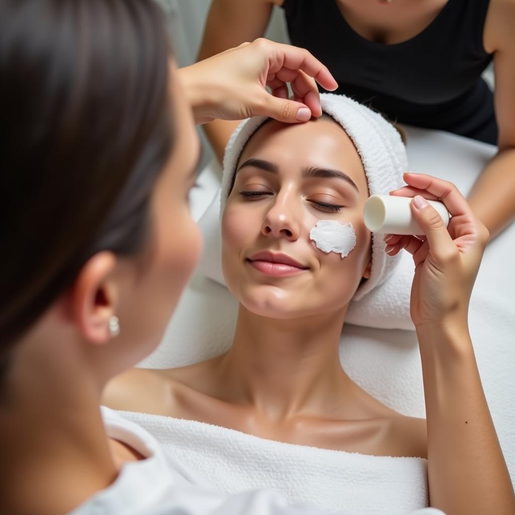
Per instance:
[[[405,174],[394,195],[440,199],[453,215],[446,228],[425,202],[411,203],[425,238],[391,236],[390,255],[413,254],[411,318],[420,345],[427,415],[431,506],[447,515],[512,515],[515,495],[477,370],[468,307],[488,231],[454,184]],[[417,199],[415,199],[417,200]]]

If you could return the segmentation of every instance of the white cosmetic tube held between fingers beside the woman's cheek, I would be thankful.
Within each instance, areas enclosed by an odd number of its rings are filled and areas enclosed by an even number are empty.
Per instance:
[[[363,219],[367,229],[381,234],[422,235],[410,208],[411,197],[372,195],[365,202]],[[449,211],[442,202],[428,200],[442,217],[445,227],[449,225]]]

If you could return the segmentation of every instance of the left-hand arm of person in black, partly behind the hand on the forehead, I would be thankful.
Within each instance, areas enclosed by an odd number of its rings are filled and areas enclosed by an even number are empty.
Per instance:
[[[198,60],[263,37],[272,7],[272,0],[213,0]],[[220,163],[229,137],[237,125],[238,122],[215,120],[203,127]]]

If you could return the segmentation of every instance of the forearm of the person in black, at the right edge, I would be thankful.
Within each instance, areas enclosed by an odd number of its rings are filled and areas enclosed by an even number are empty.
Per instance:
[[[488,163],[468,200],[490,239],[515,219],[515,148],[501,150]]]

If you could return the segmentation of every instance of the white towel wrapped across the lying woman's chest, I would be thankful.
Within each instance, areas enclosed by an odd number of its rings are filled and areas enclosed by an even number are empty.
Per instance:
[[[406,515],[428,505],[427,460],[367,456],[265,440],[191,420],[119,411],[221,492],[279,491],[349,515]],[[433,510],[429,510],[433,511]]]

